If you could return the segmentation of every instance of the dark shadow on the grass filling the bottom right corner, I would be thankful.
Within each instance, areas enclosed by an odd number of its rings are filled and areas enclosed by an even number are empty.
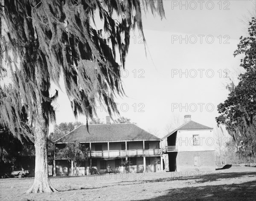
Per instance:
[[[163,191],[166,195],[150,201],[255,201],[256,181],[242,184],[186,187]],[[144,200],[141,200],[144,201]]]

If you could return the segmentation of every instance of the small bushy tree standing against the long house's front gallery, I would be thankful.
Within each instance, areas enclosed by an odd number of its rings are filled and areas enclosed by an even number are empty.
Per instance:
[[[64,152],[67,160],[74,165],[72,172],[73,175],[77,176],[81,162],[88,159],[87,150],[88,148],[86,148],[85,145],[82,145],[79,142],[69,142],[66,144],[65,148],[62,149],[62,152]]]

